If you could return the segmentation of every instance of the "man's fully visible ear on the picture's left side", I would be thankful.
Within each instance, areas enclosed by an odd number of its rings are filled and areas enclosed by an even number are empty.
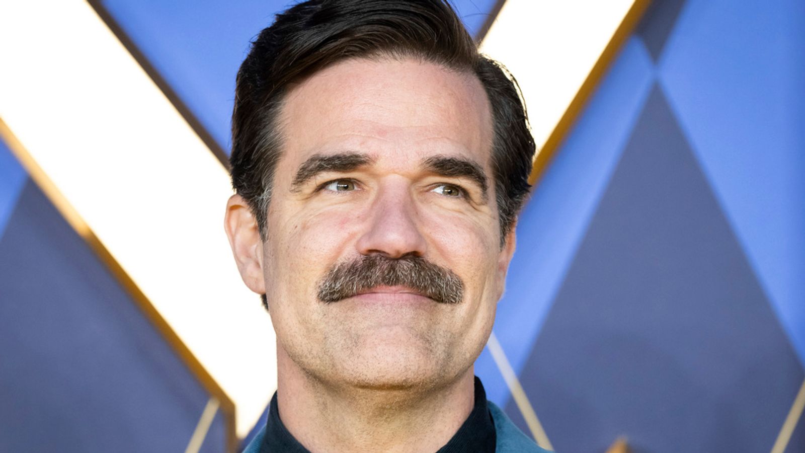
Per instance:
[[[258,294],[266,293],[266,281],[262,273],[262,239],[246,200],[240,195],[229,197],[226,203],[224,229],[235,256],[237,270],[246,286]]]

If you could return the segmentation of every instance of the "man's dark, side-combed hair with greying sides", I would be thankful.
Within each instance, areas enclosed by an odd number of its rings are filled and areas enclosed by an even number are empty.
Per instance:
[[[279,114],[288,90],[351,58],[415,58],[474,73],[493,117],[492,167],[501,243],[529,190],[535,153],[517,82],[477,46],[444,0],[309,0],[277,15],[252,42],[237,72],[232,114],[234,189],[248,202],[263,240],[283,145]]]

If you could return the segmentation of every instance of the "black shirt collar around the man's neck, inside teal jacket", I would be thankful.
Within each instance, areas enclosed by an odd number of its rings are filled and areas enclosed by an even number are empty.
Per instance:
[[[495,424],[486,405],[486,392],[481,380],[475,378],[475,405],[464,424],[453,434],[453,437],[436,453],[459,453],[465,451],[494,452]],[[279,419],[277,409],[277,393],[271,398],[266,422],[266,436],[260,446],[260,453],[309,453],[287,430]]]

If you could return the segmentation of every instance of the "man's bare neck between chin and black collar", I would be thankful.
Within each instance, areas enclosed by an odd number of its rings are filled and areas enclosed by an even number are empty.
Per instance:
[[[436,389],[333,386],[277,347],[279,417],[309,451],[437,451],[473,409],[473,368]]]

